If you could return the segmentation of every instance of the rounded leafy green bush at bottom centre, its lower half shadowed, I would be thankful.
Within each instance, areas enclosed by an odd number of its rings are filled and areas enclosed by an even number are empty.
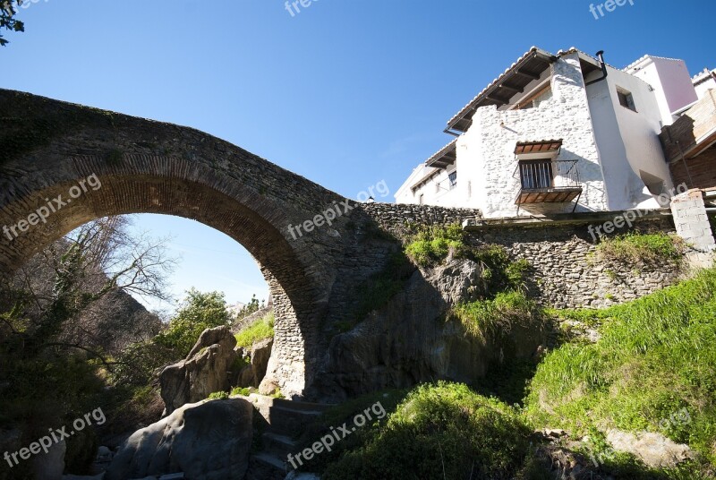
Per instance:
[[[413,390],[357,450],[323,478],[540,478],[532,430],[510,407],[462,384]]]

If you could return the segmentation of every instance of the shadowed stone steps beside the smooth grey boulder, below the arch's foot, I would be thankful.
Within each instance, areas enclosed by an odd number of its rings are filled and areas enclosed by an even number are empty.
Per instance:
[[[246,480],[283,480],[294,469],[286,461],[288,454],[299,452],[295,439],[330,406],[255,393],[244,398],[251,401],[261,417],[260,425],[254,427],[254,434],[260,434],[260,450],[251,453]]]

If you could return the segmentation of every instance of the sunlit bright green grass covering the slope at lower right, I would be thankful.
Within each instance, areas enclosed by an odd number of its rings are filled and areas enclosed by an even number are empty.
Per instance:
[[[602,323],[537,368],[525,413],[579,435],[595,427],[663,433],[716,461],[716,270],[628,304],[564,317]],[[591,320],[590,320],[591,317]],[[688,422],[663,422],[686,408]]]

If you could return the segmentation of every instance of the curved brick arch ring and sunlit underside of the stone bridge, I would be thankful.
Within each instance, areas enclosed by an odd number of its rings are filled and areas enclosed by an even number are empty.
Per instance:
[[[0,226],[10,232],[0,240],[5,272],[73,229],[115,215],[193,219],[242,244],[260,265],[276,313],[275,355],[261,390],[303,394],[306,339],[311,339],[321,300],[311,276],[311,249],[282,231],[295,221],[290,216],[295,218],[295,212],[216,170],[176,158],[129,155],[112,163],[77,156],[3,180],[11,193],[0,213]],[[13,198],[13,193],[24,194]],[[35,225],[30,225],[30,215],[40,213],[44,218],[32,218]]]

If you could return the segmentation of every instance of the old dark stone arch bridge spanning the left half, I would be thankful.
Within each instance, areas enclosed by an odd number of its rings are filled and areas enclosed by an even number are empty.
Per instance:
[[[330,226],[294,238],[288,227],[331,208],[342,214]],[[396,217],[392,207],[348,201],[191,128],[0,90],[0,228],[8,227],[0,232],[0,274],[110,215],[162,213],[216,228],[259,262],[274,298],[276,339],[263,390],[317,396],[311,386],[327,329],[345,320],[360,301],[356,287],[396,250],[377,235],[379,225],[471,214],[406,209]]]

